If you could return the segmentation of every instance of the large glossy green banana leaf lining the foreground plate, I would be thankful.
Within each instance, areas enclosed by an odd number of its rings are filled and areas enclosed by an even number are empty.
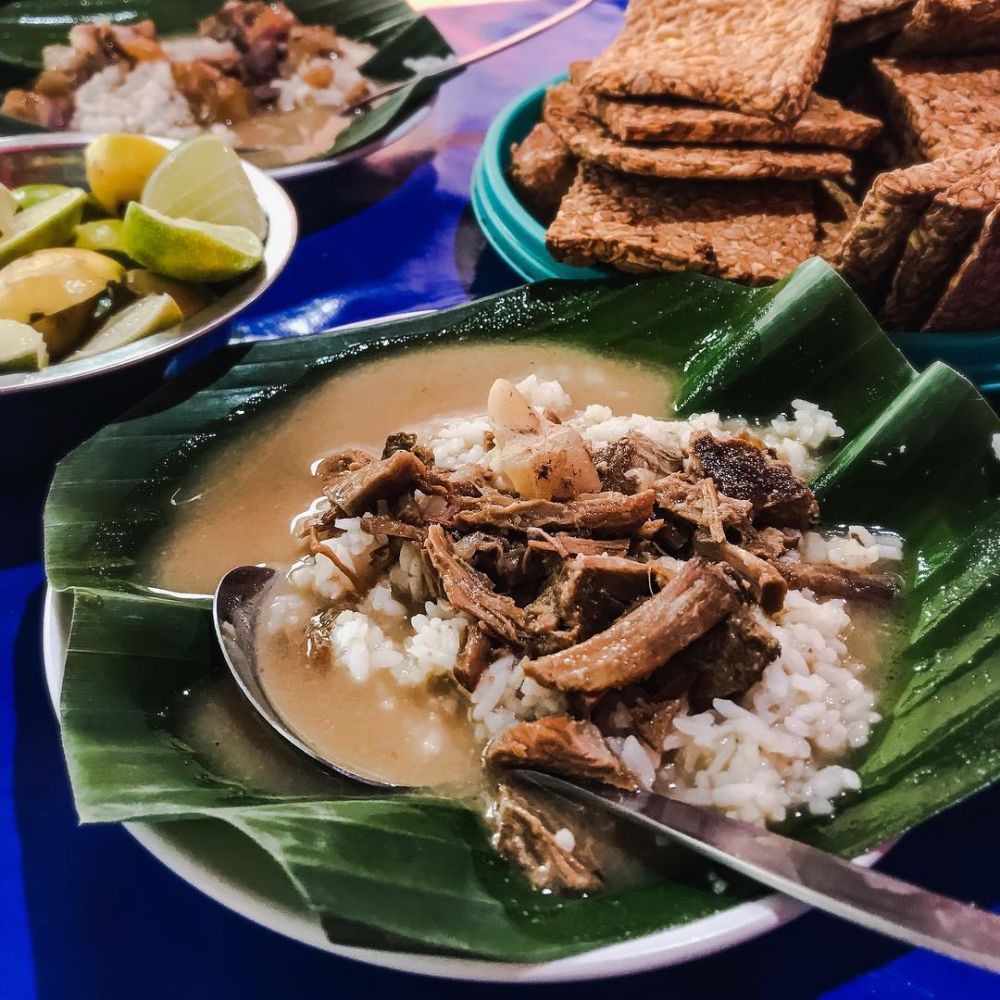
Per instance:
[[[851,761],[863,788],[833,818],[790,832],[857,855],[996,780],[1000,421],[950,369],[918,375],[812,260],[764,289],[695,274],[546,282],[339,335],[230,349],[68,456],[46,508],[46,560],[52,585],[74,598],[62,728],[84,821],[222,821],[277,862],[332,940],[371,947],[542,960],[755,894],[668,856],[591,898],[540,895],[495,856],[463,803],[386,796],[312,771],[241,703],[249,743],[275,762],[266,778],[187,739],[178,706],[225,677],[207,603],[150,589],[151,540],[170,497],[204,458],[317,380],[375,353],[475,338],[666,365],[681,413],[766,418],[793,398],[832,410],[846,433],[813,484],[824,516],[902,533],[908,586],[884,719]]]

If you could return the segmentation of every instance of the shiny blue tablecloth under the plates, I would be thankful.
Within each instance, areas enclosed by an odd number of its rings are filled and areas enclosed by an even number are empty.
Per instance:
[[[460,50],[556,6],[457,8],[436,16]],[[277,337],[451,305],[517,283],[484,247],[469,202],[483,133],[514,94],[596,53],[620,9],[598,2],[551,34],[443,88],[427,121],[363,164],[291,185],[302,239],[281,279],[228,333]],[[205,348],[202,348],[204,350]],[[190,360],[190,359],[188,359]],[[159,378],[136,373],[33,419],[83,427]],[[23,427],[0,413],[0,436]],[[435,983],[285,940],[201,896],[120,827],[79,828],[45,693],[40,511],[49,470],[3,475],[0,493],[0,998],[496,996],[506,987]],[[910,834],[884,868],[983,906],[1000,902],[1000,792]],[[1000,997],[1000,978],[810,914],[725,955],[628,981],[660,996]],[[520,987],[549,997],[609,984]]]

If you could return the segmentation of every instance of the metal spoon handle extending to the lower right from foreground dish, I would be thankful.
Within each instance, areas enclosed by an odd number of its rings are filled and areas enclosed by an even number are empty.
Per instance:
[[[1000,972],[1000,917],[762,827],[651,792],[594,790],[536,771],[521,780],[667,834],[786,896],[910,945]]]

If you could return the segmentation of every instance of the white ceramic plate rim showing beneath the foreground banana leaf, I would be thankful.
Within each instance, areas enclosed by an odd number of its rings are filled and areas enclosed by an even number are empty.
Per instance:
[[[45,679],[58,707],[66,662],[72,598],[51,589],[42,630]],[[806,908],[783,896],[768,896],[669,930],[647,934],[558,959],[519,965],[434,955],[411,955],[332,944],[298,900],[277,866],[241,834],[222,823],[126,823],[129,832],[171,871],[196,889],[263,927],[344,958],[387,969],[500,983],[554,983],[603,979],[677,965],[730,948],[787,923]],[[872,865],[884,853],[858,859]]]

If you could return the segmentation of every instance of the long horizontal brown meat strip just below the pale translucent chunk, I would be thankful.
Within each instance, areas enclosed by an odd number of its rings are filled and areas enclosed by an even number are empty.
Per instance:
[[[569,503],[552,500],[503,503],[494,498],[483,500],[474,497],[459,499],[460,508],[453,515],[453,520],[461,528],[489,526],[501,531],[562,528],[620,535],[638,531],[653,514],[653,493],[650,490],[631,497],[622,493],[594,493]]]

